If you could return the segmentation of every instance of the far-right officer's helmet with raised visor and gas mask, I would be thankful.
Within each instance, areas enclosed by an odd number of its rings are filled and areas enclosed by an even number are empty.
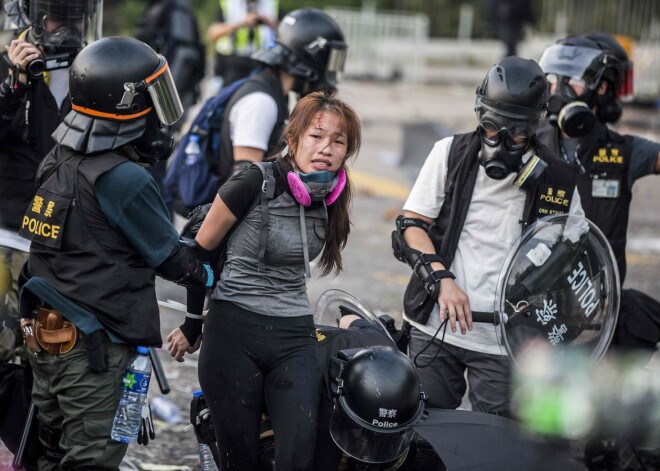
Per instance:
[[[614,122],[621,116],[617,94],[623,83],[632,91],[628,85],[632,84],[632,67],[613,37],[590,33],[560,39],[543,52],[539,63],[555,84],[548,119],[569,137],[591,132],[596,121],[592,108],[597,108],[603,122]],[[603,80],[608,87],[605,95],[600,95]]]

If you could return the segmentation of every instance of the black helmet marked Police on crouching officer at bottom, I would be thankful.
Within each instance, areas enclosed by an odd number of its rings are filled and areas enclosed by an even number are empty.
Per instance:
[[[358,351],[339,373],[337,394],[330,435],[344,453],[363,463],[405,457],[426,401],[406,355],[392,347]]]

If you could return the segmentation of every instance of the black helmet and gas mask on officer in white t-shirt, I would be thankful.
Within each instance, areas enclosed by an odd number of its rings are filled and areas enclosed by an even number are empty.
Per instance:
[[[488,71],[477,88],[475,111],[481,138],[479,160],[490,178],[502,180],[522,169],[523,156],[545,116],[548,93],[543,70],[533,60],[510,56]],[[532,162],[534,168],[527,169],[526,178],[530,173],[538,178],[545,169],[540,159]]]

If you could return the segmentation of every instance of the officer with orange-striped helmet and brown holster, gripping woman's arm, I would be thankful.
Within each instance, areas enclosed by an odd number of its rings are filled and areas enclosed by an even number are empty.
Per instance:
[[[167,61],[135,39],[100,39],[73,62],[69,93],[20,230],[32,242],[20,301],[35,337],[39,466],[118,469],[123,369],[136,345],[162,342],[155,275],[188,289],[213,275],[143,168],[169,156],[183,113]]]

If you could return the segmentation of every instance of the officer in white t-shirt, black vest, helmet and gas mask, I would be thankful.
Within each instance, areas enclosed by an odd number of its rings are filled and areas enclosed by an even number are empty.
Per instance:
[[[575,173],[535,137],[547,100],[536,62],[495,64],[477,88],[478,128],[435,144],[397,219],[394,254],[413,268],[404,295],[410,355],[430,407],[457,408],[467,370],[473,410],[508,413],[509,360],[494,326],[473,324],[472,311],[492,312],[500,269],[528,224],[582,214]]]

